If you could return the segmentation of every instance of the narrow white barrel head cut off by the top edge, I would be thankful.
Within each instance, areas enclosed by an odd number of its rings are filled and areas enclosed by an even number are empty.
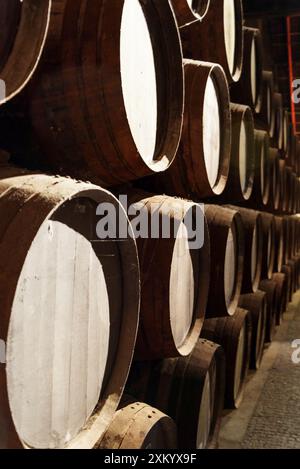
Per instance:
[[[223,1],[223,18],[224,18],[224,40],[227,54],[228,67],[231,74],[235,69],[236,54],[236,11],[235,0]]]

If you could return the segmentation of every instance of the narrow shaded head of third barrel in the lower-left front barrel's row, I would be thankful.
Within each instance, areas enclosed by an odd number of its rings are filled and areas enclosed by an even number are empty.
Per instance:
[[[224,265],[224,292],[227,307],[229,308],[235,293],[236,285],[236,236],[233,229],[228,232],[225,265]]]

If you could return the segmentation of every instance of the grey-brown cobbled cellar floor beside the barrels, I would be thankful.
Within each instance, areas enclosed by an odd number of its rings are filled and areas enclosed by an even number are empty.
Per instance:
[[[241,407],[225,412],[220,448],[300,449],[300,363],[292,362],[291,347],[295,339],[300,339],[300,292],[267,347],[261,369],[251,372]]]

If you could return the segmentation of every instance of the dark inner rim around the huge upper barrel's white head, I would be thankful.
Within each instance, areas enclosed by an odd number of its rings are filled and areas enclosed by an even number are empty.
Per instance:
[[[120,24],[122,22],[122,11],[126,0],[122,0],[120,6]],[[183,73],[183,53],[180,41],[179,28],[177,26],[175,13],[169,2],[161,2],[153,0],[153,2],[140,2],[140,6],[145,13],[145,20],[149,28],[149,35],[153,47],[154,63],[157,80],[157,90],[160,92],[158,99],[158,116],[157,116],[157,135],[156,145],[153,155],[153,162],[145,161],[142,155],[141,163],[144,167],[150,169],[154,173],[163,172],[172,164],[176,157],[176,153],[180,143],[180,136],[183,127],[183,111],[184,111],[184,73]],[[119,21],[116,17],[114,21]],[[164,25],[164,27],[158,27]],[[167,25],[167,27],[165,27]],[[109,34],[109,25],[104,28]],[[155,54],[155,51],[159,52]],[[115,49],[115,48],[114,48]],[[113,49],[113,50],[114,50]],[[118,60],[120,61],[120,47],[117,49]],[[166,68],[168,70],[166,72]],[[180,72],[179,72],[180,71]],[[166,86],[166,77],[172,77]],[[160,84],[162,86],[160,86]],[[124,96],[121,87],[121,101],[125,108]],[[163,96],[163,103],[161,97]],[[166,107],[168,104],[168,108]],[[125,111],[126,114],[126,111]],[[127,118],[127,114],[126,114]],[[131,143],[136,148],[129,122],[127,121],[127,132],[129,132]]]

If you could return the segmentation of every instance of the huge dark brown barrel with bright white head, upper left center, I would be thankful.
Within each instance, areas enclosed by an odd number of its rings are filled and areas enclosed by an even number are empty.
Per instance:
[[[164,171],[180,140],[183,92],[169,2],[53,0],[28,103],[39,164],[105,187]]]

